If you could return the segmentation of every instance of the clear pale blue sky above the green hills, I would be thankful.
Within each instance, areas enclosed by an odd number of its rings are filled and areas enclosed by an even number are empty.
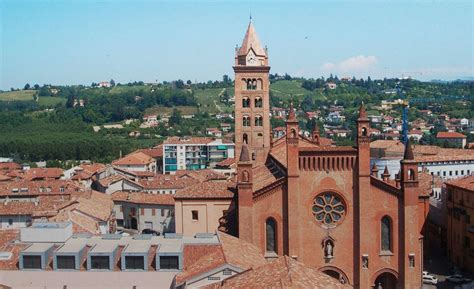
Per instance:
[[[474,76],[472,1],[0,0],[0,89],[233,78],[250,15],[271,73]]]

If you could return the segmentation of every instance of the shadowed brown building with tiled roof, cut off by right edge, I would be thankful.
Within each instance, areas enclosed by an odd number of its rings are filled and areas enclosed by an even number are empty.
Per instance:
[[[448,256],[459,268],[474,272],[474,176],[446,183]]]

